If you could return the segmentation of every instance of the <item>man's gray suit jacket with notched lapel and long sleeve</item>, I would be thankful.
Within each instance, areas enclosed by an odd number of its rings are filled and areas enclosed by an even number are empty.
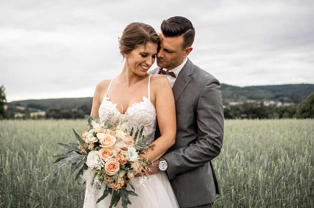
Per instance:
[[[156,68],[149,73],[158,74]],[[163,155],[180,207],[213,203],[218,183],[211,160],[220,153],[224,115],[219,81],[189,59],[172,87],[176,102],[176,142]],[[157,124],[155,139],[160,137]]]

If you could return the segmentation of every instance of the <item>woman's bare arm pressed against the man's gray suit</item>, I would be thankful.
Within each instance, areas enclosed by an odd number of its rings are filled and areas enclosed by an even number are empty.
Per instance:
[[[151,88],[155,94],[155,107],[161,136],[153,142],[154,150],[149,149],[140,156],[156,161],[175,143],[176,106],[170,83],[166,77],[153,75]]]

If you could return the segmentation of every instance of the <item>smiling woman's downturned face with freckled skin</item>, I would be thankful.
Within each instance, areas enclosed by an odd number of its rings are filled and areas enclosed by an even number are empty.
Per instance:
[[[127,67],[139,76],[146,75],[149,68],[154,64],[157,55],[157,43],[138,45],[133,51],[126,54]]]

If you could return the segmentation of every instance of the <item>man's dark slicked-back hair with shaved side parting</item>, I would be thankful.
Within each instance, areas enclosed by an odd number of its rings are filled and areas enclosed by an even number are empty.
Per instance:
[[[161,23],[161,32],[165,37],[179,37],[182,35],[182,49],[192,46],[195,37],[195,29],[192,22],[185,17],[176,16],[164,20]]]

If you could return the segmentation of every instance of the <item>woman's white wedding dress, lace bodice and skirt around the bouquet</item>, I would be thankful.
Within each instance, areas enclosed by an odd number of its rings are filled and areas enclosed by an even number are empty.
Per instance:
[[[110,101],[110,98],[107,97],[111,84],[114,78],[111,80],[107,92],[104,96],[102,103],[100,104],[98,113],[100,121],[108,117],[108,115],[118,116],[122,119],[127,119],[132,122],[132,125],[129,128],[134,126],[134,123],[137,126],[143,126],[143,133],[145,136],[148,136],[156,129],[156,109],[150,101],[150,78],[148,81],[148,97],[143,96],[143,101],[139,103],[132,104],[131,107],[127,109],[125,114],[121,114],[116,108],[117,104],[114,104]],[[153,142],[149,141],[150,143]],[[155,165],[155,164],[154,164]],[[135,177],[130,180],[134,185],[135,192],[139,197],[129,195],[132,205],[128,207],[134,208],[178,208],[176,197],[171,188],[171,184],[165,172],[158,172],[149,177],[149,181],[144,180],[143,185],[139,184],[139,181],[143,180],[143,177]],[[102,196],[105,189],[105,184],[103,183],[100,190],[97,190],[95,193],[89,193],[85,191],[84,197],[84,208],[107,208],[111,202],[111,195],[108,195],[104,200],[101,200],[96,204],[96,201]],[[131,190],[131,187],[128,185],[128,189]],[[121,200],[116,206],[122,208]]]

